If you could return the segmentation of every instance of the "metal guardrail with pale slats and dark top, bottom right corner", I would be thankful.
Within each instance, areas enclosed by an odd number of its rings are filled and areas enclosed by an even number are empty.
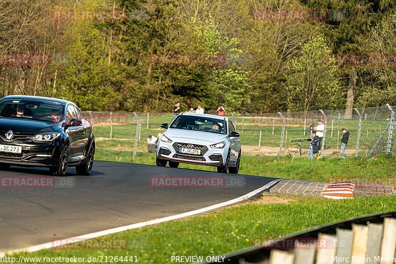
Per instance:
[[[390,212],[314,227],[264,245],[257,243],[226,255],[223,263],[395,263],[395,250],[396,212]]]

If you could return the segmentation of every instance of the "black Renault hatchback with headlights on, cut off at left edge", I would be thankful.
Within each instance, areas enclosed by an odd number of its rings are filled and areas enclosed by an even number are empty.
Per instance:
[[[41,166],[63,176],[76,166],[77,174],[89,175],[94,155],[92,126],[75,104],[35,96],[0,100],[0,169]]]

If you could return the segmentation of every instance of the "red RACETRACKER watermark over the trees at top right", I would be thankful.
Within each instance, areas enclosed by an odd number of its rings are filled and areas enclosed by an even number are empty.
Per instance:
[[[259,21],[343,21],[347,10],[334,9],[253,9],[253,20]]]

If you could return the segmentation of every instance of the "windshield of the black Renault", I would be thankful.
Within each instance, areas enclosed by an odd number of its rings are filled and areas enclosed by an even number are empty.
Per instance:
[[[35,100],[3,100],[0,116],[57,123],[63,120],[64,105]]]

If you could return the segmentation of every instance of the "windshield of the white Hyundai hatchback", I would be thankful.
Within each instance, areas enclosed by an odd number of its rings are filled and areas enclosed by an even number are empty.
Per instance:
[[[197,130],[216,134],[227,134],[226,122],[215,118],[179,115],[173,120],[170,128]]]

